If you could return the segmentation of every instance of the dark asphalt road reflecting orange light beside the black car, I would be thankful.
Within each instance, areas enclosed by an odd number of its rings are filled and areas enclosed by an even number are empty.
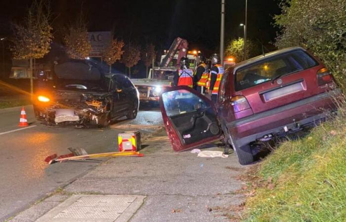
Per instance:
[[[65,162],[47,165],[53,153],[85,148],[88,153],[117,151],[117,135],[130,127],[142,135],[162,125],[160,111],[139,111],[134,120],[117,121],[105,129],[47,127],[26,109],[31,128],[17,127],[20,108],[0,111],[0,221],[27,208],[45,194],[76,180],[98,162]],[[18,129],[23,129],[15,131]],[[13,131],[14,130],[14,131]]]

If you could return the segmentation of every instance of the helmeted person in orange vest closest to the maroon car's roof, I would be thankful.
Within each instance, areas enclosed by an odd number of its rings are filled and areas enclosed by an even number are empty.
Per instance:
[[[218,87],[221,82],[222,75],[224,73],[223,67],[220,64],[220,57],[215,53],[210,58],[212,62],[212,69],[210,71],[210,90],[209,93],[212,93],[212,101],[216,103],[217,101],[217,94],[218,94]]]

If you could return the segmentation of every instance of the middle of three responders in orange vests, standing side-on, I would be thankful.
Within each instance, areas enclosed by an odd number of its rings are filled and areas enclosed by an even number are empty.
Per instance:
[[[196,90],[204,95],[209,76],[208,65],[206,64],[206,58],[202,54],[197,56],[197,60],[198,66],[195,74]]]

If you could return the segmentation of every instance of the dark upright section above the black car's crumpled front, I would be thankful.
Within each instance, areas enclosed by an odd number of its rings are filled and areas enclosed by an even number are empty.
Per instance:
[[[54,67],[55,87],[69,90],[106,91],[107,79],[92,64],[66,62]]]

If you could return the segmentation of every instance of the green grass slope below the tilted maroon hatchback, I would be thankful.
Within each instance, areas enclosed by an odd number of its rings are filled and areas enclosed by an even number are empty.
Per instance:
[[[246,202],[247,221],[346,221],[344,109],[303,139],[283,143],[261,163],[255,195]]]

